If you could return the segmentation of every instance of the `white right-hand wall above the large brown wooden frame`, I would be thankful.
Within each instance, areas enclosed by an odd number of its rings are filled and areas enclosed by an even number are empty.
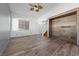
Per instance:
[[[63,13],[65,11],[68,11],[68,10],[71,10],[71,9],[74,9],[77,7],[79,7],[79,3],[60,3],[60,4],[57,4],[57,6],[53,7],[52,10],[50,10],[46,14],[43,14],[42,17],[39,18],[39,21],[42,22],[42,21],[48,20],[49,17],[51,17],[51,16]],[[43,25],[43,24],[42,24],[42,26],[47,27],[47,25]],[[48,28],[42,27],[42,31],[43,30],[46,31],[47,29]],[[45,32],[45,31],[43,31],[43,32]]]

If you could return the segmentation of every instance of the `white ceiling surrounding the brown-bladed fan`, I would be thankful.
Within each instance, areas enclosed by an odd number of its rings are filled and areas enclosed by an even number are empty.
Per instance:
[[[56,3],[40,3],[43,6],[43,9],[39,12],[30,11],[30,6],[28,3],[10,3],[10,10],[13,17],[17,18],[28,18],[28,19],[38,19],[42,15],[48,13],[49,11],[53,11],[53,7],[55,7]]]

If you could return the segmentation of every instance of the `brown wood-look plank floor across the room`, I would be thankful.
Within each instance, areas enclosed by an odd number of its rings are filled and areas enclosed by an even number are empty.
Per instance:
[[[40,35],[11,39],[3,56],[79,56],[79,46]]]

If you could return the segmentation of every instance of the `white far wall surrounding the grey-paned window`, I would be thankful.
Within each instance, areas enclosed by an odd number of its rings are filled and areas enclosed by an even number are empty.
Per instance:
[[[28,35],[41,34],[40,25],[38,24],[36,19],[28,19],[28,18],[25,18],[23,16],[18,16],[18,15],[16,15],[16,17],[14,17],[14,15],[12,15],[11,37],[19,37],[19,36],[28,36]],[[29,21],[29,30],[19,29],[19,27],[18,27],[19,26],[18,25],[18,20],[19,19]]]

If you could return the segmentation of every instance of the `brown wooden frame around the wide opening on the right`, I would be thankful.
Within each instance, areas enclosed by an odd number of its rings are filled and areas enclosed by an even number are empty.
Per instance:
[[[57,19],[57,18],[61,18],[61,17],[65,17],[65,16],[70,16],[76,14],[76,25],[77,25],[77,45],[79,45],[79,7],[74,8],[72,10],[57,14],[55,16],[52,16],[49,18],[49,38],[52,37],[52,20]]]

